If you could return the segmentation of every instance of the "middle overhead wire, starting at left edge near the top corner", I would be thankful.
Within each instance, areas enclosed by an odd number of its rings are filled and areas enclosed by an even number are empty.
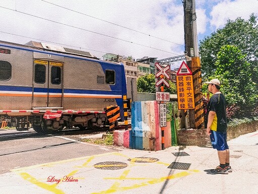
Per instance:
[[[171,53],[171,52],[168,52],[168,51],[164,51],[164,50],[161,50],[161,49],[157,49],[157,48],[155,48],[155,47],[151,47],[151,46],[147,46],[147,45],[144,45],[144,44],[140,44],[140,43],[136,43],[136,42],[124,40],[124,39],[121,39],[121,38],[109,36],[109,35],[102,34],[102,33],[99,33],[99,32],[94,32],[94,31],[91,31],[91,30],[86,30],[86,29],[84,29],[84,28],[72,26],[72,25],[69,25],[69,24],[64,24],[64,23],[61,23],[61,22],[56,22],[56,21],[53,21],[53,20],[49,20],[49,19],[46,19],[46,18],[42,18],[42,17],[39,17],[39,16],[35,16],[35,15],[32,15],[32,14],[28,14],[28,13],[25,13],[25,12],[13,10],[13,9],[6,8],[6,7],[3,7],[3,6],[0,6],[0,8],[4,8],[4,9],[7,9],[7,10],[11,10],[11,11],[14,11],[14,12],[18,12],[18,13],[21,13],[21,14],[25,14],[25,15],[28,15],[28,16],[32,16],[32,17],[35,17],[35,18],[43,19],[43,20],[46,20],[46,21],[54,22],[54,23],[61,24],[61,25],[64,25],[64,26],[69,26],[69,27],[72,27],[72,28],[76,28],[76,29],[80,29],[80,30],[87,31],[87,32],[95,33],[95,34],[98,34],[98,35],[106,36],[106,37],[109,37],[109,38],[114,38],[114,39],[121,40],[121,41],[124,41],[124,42],[129,42],[129,43],[137,44],[137,45],[144,46],[144,47],[148,47],[148,48],[150,47],[151,49],[158,50],[158,51],[162,51],[162,52],[165,52],[165,53],[170,53],[170,54],[178,55],[178,54],[176,54],[176,53]]]

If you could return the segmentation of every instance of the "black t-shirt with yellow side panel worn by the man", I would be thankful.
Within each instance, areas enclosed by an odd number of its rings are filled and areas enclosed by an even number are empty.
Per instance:
[[[222,93],[215,93],[207,105],[208,115],[210,111],[216,112],[211,130],[224,132],[227,130],[226,99]]]

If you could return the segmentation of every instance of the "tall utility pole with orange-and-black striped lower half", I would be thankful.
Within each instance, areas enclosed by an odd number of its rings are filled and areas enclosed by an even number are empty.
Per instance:
[[[196,4],[195,0],[183,0],[185,53],[187,66],[193,75],[195,110],[189,110],[190,128],[204,128],[204,108],[202,100],[201,64],[198,50]]]

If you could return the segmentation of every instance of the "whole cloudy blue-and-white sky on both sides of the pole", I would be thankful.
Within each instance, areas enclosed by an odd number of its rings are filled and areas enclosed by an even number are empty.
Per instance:
[[[251,13],[258,16],[258,0],[196,0],[198,43],[228,19],[247,20]],[[0,0],[0,17],[3,41],[45,42],[100,59],[184,54],[181,0]]]

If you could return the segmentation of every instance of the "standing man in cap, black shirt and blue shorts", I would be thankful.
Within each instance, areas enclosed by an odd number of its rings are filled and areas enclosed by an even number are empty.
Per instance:
[[[212,169],[212,173],[228,174],[232,172],[229,165],[229,149],[227,144],[227,117],[226,99],[220,92],[220,81],[212,79],[209,82],[208,90],[213,95],[207,105],[208,124],[207,134],[211,137],[212,146],[217,149],[220,165]]]

